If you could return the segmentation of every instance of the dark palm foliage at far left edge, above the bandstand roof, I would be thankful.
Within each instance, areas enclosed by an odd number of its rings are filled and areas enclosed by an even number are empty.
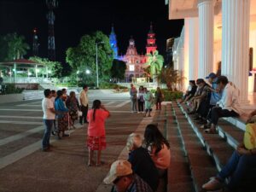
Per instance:
[[[24,36],[16,32],[0,37],[0,61],[20,59],[26,55],[28,49],[30,47],[26,44]]]

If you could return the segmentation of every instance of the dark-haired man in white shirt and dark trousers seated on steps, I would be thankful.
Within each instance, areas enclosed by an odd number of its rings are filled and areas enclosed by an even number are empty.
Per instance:
[[[212,108],[211,128],[205,130],[207,133],[216,133],[216,125],[221,117],[237,117],[241,115],[239,104],[239,90],[235,84],[229,82],[225,76],[218,77],[218,88],[222,90],[221,99],[217,102],[216,107]]]

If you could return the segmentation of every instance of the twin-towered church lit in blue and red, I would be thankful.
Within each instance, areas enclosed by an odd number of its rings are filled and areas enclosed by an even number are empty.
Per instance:
[[[137,79],[142,82],[146,81],[146,79],[143,79],[147,76],[143,70],[143,67],[144,67],[144,64],[147,62],[147,56],[137,54],[135,40],[131,37],[129,40],[128,48],[126,50],[126,54],[119,56],[117,38],[113,31],[113,26],[112,26],[112,30],[109,35],[109,44],[113,49],[114,59],[125,61],[126,63],[125,81],[131,82],[132,79]],[[157,49],[157,46],[155,44],[155,34],[153,32],[153,26],[151,24],[150,30],[148,32],[147,45],[146,45],[147,54],[154,53],[156,49]]]

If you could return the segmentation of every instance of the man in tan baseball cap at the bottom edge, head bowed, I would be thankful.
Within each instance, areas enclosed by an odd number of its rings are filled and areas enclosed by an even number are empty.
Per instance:
[[[113,183],[117,192],[153,192],[148,183],[132,173],[131,163],[127,160],[114,161],[104,183]]]

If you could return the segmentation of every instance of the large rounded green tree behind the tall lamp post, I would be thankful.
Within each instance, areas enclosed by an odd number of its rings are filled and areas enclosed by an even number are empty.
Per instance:
[[[99,31],[84,35],[77,47],[67,49],[66,61],[73,68],[73,72],[89,69],[90,75],[96,77],[96,43],[100,42],[103,43],[97,44],[99,80],[109,81],[113,50],[108,36]]]

